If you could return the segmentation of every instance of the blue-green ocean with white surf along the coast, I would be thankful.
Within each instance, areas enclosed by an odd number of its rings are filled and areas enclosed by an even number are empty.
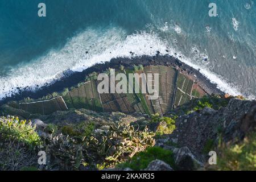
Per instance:
[[[38,4],[46,4],[46,17]],[[217,17],[210,17],[210,3]],[[1,0],[0,99],[114,57],[177,56],[222,91],[256,97],[251,0]]]

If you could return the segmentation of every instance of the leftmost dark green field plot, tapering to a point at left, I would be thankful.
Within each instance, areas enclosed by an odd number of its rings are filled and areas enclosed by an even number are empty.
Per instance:
[[[51,114],[57,110],[68,110],[61,96],[52,100],[21,103],[19,108],[32,114]]]

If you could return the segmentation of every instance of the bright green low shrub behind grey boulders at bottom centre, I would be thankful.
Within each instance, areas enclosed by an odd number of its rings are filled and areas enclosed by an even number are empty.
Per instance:
[[[120,164],[121,168],[129,167],[133,170],[141,170],[147,168],[148,164],[153,160],[162,160],[166,162],[171,167],[174,165],[174,154],[170,150],[164,150],[161,147],[149,147],[143,152],[139,152],[134,155],[133,158],[129,159],[126,163]]]

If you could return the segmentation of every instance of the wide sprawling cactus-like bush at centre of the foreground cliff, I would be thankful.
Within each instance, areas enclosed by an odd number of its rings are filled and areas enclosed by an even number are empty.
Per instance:
[[[93,123],[64,126],[53,133],[49,141],[51,166],[61,170],[76,170],[80,166],[92,169],[114,167],[129,156],[153,146],[154,133],[147,128],[135,131],[133,126],[113,125],[108,131],[94,130]]]

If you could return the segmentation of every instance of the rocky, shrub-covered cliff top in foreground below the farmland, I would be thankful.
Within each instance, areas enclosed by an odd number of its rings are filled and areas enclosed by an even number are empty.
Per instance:
[[[256,169],[256,101],[205,96],[163,117],[86,109],[30,117],[0,118],[1,170]]]

